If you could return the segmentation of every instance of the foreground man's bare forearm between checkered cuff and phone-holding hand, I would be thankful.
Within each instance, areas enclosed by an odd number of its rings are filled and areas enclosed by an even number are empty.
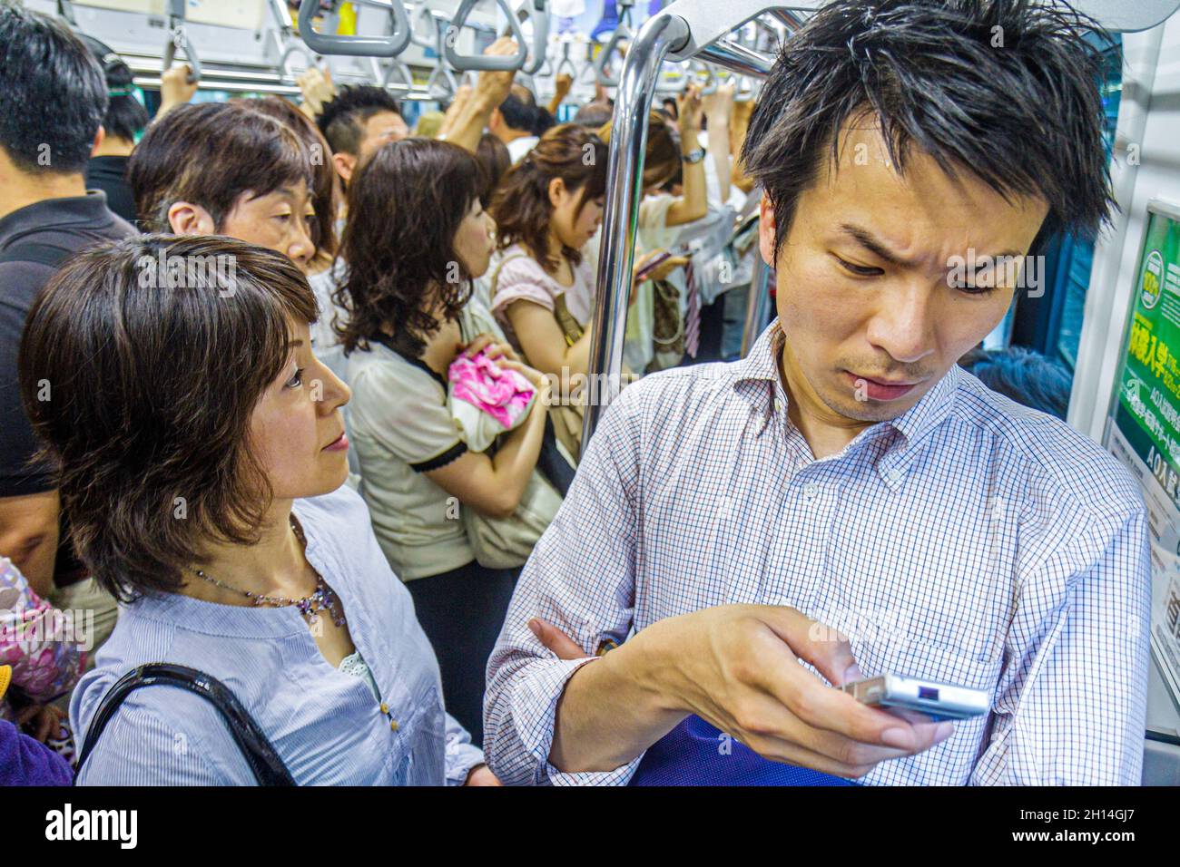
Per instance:
[[[557,703],[550,764],[566,774],[614,770],[687,716],[657,678],[674,658],[667,632],[649,626],[573,674]]]

